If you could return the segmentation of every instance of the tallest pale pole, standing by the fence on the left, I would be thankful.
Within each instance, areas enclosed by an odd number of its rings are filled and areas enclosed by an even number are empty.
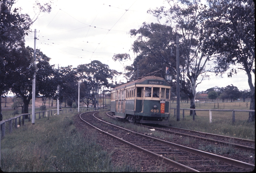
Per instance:
[[[34,37],[34,67],[36,69],[36,29],[35,29],[35,37]],[[33,75],[33,83],[32,83],[32,124],[35,124],[35,119],[36,119],[35,103],[36,103],[36,72]]]

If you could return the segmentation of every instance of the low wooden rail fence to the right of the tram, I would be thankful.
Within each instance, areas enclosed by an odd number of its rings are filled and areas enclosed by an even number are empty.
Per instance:
[[[174,109],[174,116],[176,116],[176,108],[170,108]],[[240,109],[184,109],[180,108],[182,110],[182,118],[185,117],[184,110],[192,110],[193,111],[193,121],[195,121],[195,111],[209,111],[209,117],[210,117],[210,123],[212,123],[212,111],[232,111],[232,122],[235,122],[235,112],[255,112],[255,110],[240,110]]]

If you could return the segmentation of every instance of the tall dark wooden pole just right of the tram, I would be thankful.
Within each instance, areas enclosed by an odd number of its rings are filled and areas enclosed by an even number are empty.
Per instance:
[[[180,121],[180,43],[179,35],[176,35],[176,71],[177,71],[177,113],[176,121]]]

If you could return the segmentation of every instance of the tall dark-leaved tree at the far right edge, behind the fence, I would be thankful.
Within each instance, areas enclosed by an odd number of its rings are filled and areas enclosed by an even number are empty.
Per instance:
[[[206,26],[213,29],[212,39],[205,44],[209,51],[217,51],[221,66],[239,65],[246,72],[251,90],[250,110],[255,110],[255,4],[252,0],[209,0],[205,9]],[[233,69],[228,77],[236,73]],[[255,112],[249,113],[249,122],[255,120]]]

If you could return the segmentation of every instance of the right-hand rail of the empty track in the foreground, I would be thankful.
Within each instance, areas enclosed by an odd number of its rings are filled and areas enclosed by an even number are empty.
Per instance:
[[[97,118],[97,117],[95,117],[95,118]],[[98,119],[98,120],[100,120],[100,119]],[[100,120],[100,121],[104,122],[102,120]],[[108,122],[105,122],[105,123],[108,123]],[[237,160],[230,159],[230,158],[227,158],[227,157],[223,157],[223,156],[220,156],[220,155],[217,155],[217,154],[204,152],[204,151],[197,150],[197,149],[194,149],[194,148],[189,148],[187,146],[183,146],[183,145],[175,144],[175,143],[172,143],[172,142],[164,141],[162,139],[157,139],[157,138],[154,138],[154,137],[143,135],[143,134],[134,132],[132,130],[124,129],[122,127],[116,126],[116,125],[111,124],[111,123],[108,123],[108,124],[110,124],[110,125],[112,125],[112,126],[114,126],[116,128],[120,128],[122,130],[129,131],[129,132],[134,133],[136,135],[139,135],[141,137],[153,139],[154,141],[157,141],[157,142],[159,142],[159,143],[161,143],[163,145],[168,145],[168,146],[176,147],[176,148],[179,148],[181,150],[184,150],[184,151],[187,151],[187,152],[190,152],[190,153],[194,153],[194,154],[198,154],[198,155],[201,155],[201,156],[204,156],[204,157],[208,157],[208,158],[211,158],[211,159],[223,161],[225,163],[232,164],[232,165],[235,165],[235,166],[239,166],[239,167],[244,168],[244,169],[251,169],[251,170],[253,170],[254,167],[255,167],[255,165],[250,164],[250,163],[246,163],[246,162],[243,162],[243,161],[237,161]]]

